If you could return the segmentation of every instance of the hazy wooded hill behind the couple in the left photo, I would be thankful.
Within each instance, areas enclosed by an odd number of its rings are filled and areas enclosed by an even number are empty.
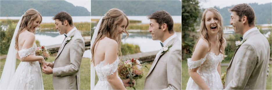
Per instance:
[[[0,1],[1,16],[22,16],[30,8],[36,9],[42,16],[55,16],[58,12],[65,11],[71,16],[90,16],[90,12],[80,6],[74,6],[64,0],[38,0],[38,1]]]

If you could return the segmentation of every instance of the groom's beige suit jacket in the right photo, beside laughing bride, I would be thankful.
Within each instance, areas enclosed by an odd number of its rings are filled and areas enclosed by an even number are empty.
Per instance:
[[[227,68],[225,89],[266,89],[269,42],[259,30],[251,31],[244,39]]]

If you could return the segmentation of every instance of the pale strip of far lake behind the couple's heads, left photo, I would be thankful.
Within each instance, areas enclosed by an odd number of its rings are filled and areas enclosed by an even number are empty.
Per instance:
[[[42,16],[42,23],[55,23],[52,20],[54,16]],[[0,19],[20,19],[19,16],[4,17],[1,16]],[[73,22],[91,22],[90,16],[72,16]]]

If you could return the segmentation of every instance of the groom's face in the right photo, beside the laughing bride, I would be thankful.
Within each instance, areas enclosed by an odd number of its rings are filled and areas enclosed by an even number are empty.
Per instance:
[[[242,33],[244,29],[243,22],[239,21],[239,16],[234,11],[232,11],[230,15],[230,25],[232,25],[234,33]]]

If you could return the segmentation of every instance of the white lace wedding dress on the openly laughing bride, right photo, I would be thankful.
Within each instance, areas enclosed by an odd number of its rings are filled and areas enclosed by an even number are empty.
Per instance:
[[[204,58],[198,61],[192,61],[192,58],[188,58],[188,68],[194,69],[200,66],[197,73],[204,80],[206,85],[210,89],[223,89],[221,77],[217,71],[218,64],[223,60],[223,54],[215,55],[213,52],[208,52]],[[190,77],[187,83],[186,89],[201,89],[194,80]]]

